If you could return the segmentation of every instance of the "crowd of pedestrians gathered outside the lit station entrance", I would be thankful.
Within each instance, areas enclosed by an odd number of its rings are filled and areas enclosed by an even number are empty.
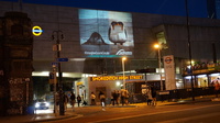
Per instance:
[[[151,86],[147,89],[147,105],[152,104],[152,105],[156,105],[156,90],[153,86]],[[97,105],[100,104],[102,110],[105,111],[105,107],[107,103],[107,93],[105,93],[103,91],[99,91],[96,96],[95,92],[90,93],[90,105]],[[121,90],[113,90],[110,93],[110,97],[108,99],[111,99],[110,104],[111,105],[128,105],[129,104],[129,98],[130,98],[130,93],[128,90],[125,89],[121,89]],[[81,102],[84,101],[84,102]],[[72,110],[75,111],[75,104],[77,103],[78,107],[80,107],[82,104],[87,104],[86,101],[82,99],[82,97],[80,97],[79,94],[76,97],[74,92],[70,92],[70,96],[66,96],[65,94],[65,110],[67,109],[67,103],[70,103],[72,105]],[[98,102],[98,103],[97,103]]]

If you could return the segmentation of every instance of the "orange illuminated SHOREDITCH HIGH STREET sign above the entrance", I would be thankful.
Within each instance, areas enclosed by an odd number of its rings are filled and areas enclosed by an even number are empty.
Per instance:
[[[140,80],[143,79],[142,75],[138,76],[124,76],[127,80]],[[112,81],[123,80],[123,76],[102,76],[102,77],[90,77],[90,81]]]

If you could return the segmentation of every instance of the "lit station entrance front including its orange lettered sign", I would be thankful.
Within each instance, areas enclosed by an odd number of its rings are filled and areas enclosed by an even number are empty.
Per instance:
[[[125,80],[125,85],[123,85]],[[133,81],[133,82],[132,82]],[[113,91],[121,92],[122,90],[128,90],[129,96],[134,93],[134,81],[144,82],[143,75],[131,75],[131,76],[101,76],[101,77],[89,77],[88,78],[88,102],[90,103],[90,94],[94,92],[96,94],[97,104],[100,103],[99,92],[102,91],[106,94],[107,104],[111,103],[111,93]],[[145,83],[145,82],[144,82]],[[124,87],[125,86],[125,87]],[[130,97],[131,98],[131,97]]]

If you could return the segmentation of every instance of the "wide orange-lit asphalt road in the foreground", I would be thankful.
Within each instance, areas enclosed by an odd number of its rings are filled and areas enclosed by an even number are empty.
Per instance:
[[[77,119],[51,121],[47,123],[219,123],[220,102],[200,102],[160,107],[99,107],[77,108]]]

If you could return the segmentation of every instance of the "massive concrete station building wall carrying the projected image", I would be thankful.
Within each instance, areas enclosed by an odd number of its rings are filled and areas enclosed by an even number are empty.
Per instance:
[[[32,21],[33,27],[29,32],[33,33],[34,87],[40,82],[48,85],[46,79],[48,72],[58,62],[63,72],[63,86],[75,83],[73,88],[64,91],[77,92],[79,90],[77,88],[85,86],[81,86],[80,81],[86,81],[85,78],[89,76],[122,75],[122,72],[135,75],[136,69],[145,68],[156,68],[156,72],[147,74],[146,80],[160,82],[162,79],[166,83],[163,65],[160,78],[158,54],[153,47],[155,43],[160,43],[163,46],[162,57],[174,56],[176,89],[191,88],[190,80],[185,78],[191,75],[185,74],[186,67],[190,65],[189,48],[191,58],[197,64],[218,64],[220,57],[220,48],[217,48],[220,45],[218,20],[190,18],[188,40],[185,16],[30,3],[23,3],[21,10],[16,2],[1,1],[0,16],[4,16],[9,11],[22,11]],[[188,47],[189,42],[191,47]],[[57,59],[57,49],[61,51],[59,58],[65,62]],[[124,71],[122,56],[128,57]],[[213,71],[194,72],[194,76],[209,72]],[[215,70],[215,74],[218,74],[218,70]],[[216,75],[215,78],[219,76]],[[196,88],[208,87],[215,78],[207,78],[207,83],[198,83],[204,81],[199,78],[194,82]]]

